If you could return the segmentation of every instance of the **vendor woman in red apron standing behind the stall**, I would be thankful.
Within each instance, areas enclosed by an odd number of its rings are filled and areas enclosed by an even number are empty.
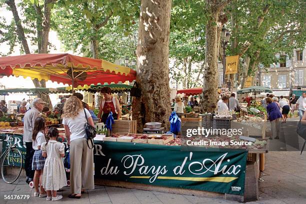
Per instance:
[[[103,87],[100,93],[103,95],[103,99],[100,103],[97,117],[105,124],[108,114],[112,112],[113,119],[119,120],[121,117],[119,101],[117,98],[111,96],[111,89],[109,87]]]

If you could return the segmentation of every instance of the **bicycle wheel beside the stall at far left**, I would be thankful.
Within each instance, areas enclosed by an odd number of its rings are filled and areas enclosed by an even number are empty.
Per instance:
[[[22,170],[23,159],[21,152],[16,149],[9,149],[1,162],[2,179],[7,184],[14,183]]]

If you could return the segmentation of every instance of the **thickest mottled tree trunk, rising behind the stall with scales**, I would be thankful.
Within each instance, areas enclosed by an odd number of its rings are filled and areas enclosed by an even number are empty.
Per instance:
[[[169,25],[171,0],[141,0],[137,45],[137,78],[141,97],[134,98],[133,118],[137,131],[146,122],[169,127]]]

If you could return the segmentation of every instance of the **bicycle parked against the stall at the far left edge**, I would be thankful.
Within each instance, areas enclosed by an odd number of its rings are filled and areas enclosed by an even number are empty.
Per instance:
[[[13,144],[14,134],[6,134],[0,141],[7,142],[6,150],[1,154],[1,176],[5,183],[12,184],[20,176],[23,158],[20,150]],[[2,144],[3,145],[3,144]],[[3,149],[3,148],[2,148]],[[19,167],[20,166],[20,167]]]

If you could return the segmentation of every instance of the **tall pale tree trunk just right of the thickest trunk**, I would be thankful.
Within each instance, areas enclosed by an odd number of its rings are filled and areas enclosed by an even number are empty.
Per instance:
[[[203,92],[201,98],[201,111],[213,112],[216,109],[218,99],[218,24],[221,10],[227,1],[207,0],[207,12],[209,13],[205,29],[205,65],[203,75]]]

